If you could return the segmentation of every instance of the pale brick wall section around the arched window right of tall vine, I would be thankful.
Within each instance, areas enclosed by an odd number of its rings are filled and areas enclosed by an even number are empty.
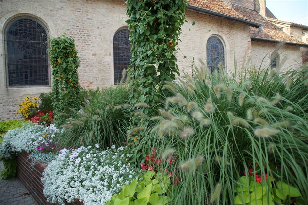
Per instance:
[[[225,46],[225,66],[227,72],[234,72],[234,59],[237,69],[245,66],[250,56],[249,26],[221,17],[209,16],[188,10],[187,23],[183,25],[178,51],[178,67],[181,72],[191,73],[191,65],[200,66],[199,60],[206,64],[206,44],[211,35],[220,37]],[[195,25],[192,22],[195,21]],[[187,58],[184,59],[184,56]]]

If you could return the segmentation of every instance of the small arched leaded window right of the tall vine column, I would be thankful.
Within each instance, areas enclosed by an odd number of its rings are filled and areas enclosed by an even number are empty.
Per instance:
[[[223,42],[216,36],[211,36],[207,42],[207,66],[213,72],[225,68],[225,49]]]

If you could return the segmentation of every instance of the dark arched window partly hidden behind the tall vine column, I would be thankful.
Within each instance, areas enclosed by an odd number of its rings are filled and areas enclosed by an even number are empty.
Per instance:
[[[121,29],[113,37],[114,85],[120,83],[122,72],[130,64],[129,30]]]

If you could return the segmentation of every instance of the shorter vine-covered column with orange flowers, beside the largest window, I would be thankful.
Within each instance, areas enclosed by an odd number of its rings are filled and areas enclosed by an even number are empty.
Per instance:
[[[54,116],[57,123],[61,123],[65,119],[62,113],[69,114],[69,108],[77,109],[80,106],[79,58],[74,39],[65,35],[51,39],[50,63],[53,68]]]

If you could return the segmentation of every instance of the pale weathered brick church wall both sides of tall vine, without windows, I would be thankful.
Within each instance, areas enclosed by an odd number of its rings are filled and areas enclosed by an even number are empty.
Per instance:
[[[128,17],[124,1],[0,0],[0,121],[18,118],[15,115],[16,105],[25,96],[51,91],[51,87],[7,88],[6,86],[4,29],[10,19],[22,14],[42,21],[48,28],[51,38],[66,33],[76,40],[81,60],[79,80],[82,87],[113,86],[113,36],[118,29],[126,26],[125,20]],[[247,25],[192,10],[187,11],[187,20],[188,23],[184,24],[183,34],[180,37],[181,50],[177,54],[178,66],[182,73],[191,73],[193,57],[197,66],[200,65],[199,59],[206,62],[206,42],[211,35],[219,36],[224,42],[225,65],[228,72],[235,69],[234,59],[237,69],[241,69],[249,56],[254,56],[251,54]],[[196,22],[194,26],[192,26],[193,21]],[[261,49],[263,54],[265,51],[266,54],[272,46],[267,47],[260,43],[256,50],[258,49]],[[259,52],[256,54],[260,55]],[[184,56],[187,58],[184,59]],[[260,56],[256,58],[258,61],[261,59]]]

